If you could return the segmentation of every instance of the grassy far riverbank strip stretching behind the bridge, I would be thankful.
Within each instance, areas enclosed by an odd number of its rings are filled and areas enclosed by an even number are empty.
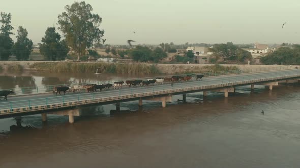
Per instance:
[[[294,68],[286,65],[212,65],[212,64],[146,64],[146,63],[106,63],[106,62],[51,62],[51,61],[1,61],[0,69],[35,70],[49,72],[89,72],[121,74],[179,74],[201,73],[226,70],[272,70]]]

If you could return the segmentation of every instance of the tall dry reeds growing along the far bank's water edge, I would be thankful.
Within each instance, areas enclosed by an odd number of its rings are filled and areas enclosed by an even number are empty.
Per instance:
[[[78,63],[78,62],[37,62],[30,68],[51,72],[96,72],[98,73],[122,73],[122,74],[153,74],[159,73],[155,65],[144,63]]]

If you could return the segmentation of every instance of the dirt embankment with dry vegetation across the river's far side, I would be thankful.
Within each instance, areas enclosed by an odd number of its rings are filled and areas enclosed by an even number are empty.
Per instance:
[[[100,66],[105,69],[109,67],[108,65],[119,67],[119,69],[126,68],[137,68],[136,71],[140,71],[140,73],[151,73],[153,71],[159,71],[164,74],[175,74],[175,73],[199,73],[199,72],[207,72],[207,71],[224,71],[224,70],[277,70],[277,69],[290,69],[294,67],[298,67],[295,65],[286,66],[286,65],[211,65],[211,64],[143,64],[143,63],[135,63],[135,66],[131,66],[133,64],[122,64],[122,63],[104,63],[104,62],[51,62],[51,61],[0,61],[0,69],[5,70],[45,70],[45,71],[55,71],[56,69],[51,69],[51,67],[56,67],[57,65],[64,66],[64,72],[72,72],[75,69],[70,66],[71,65],[81,65],[81,68],[91,71],[96,71],[96,67]],[[93,66],[91,66],[93,64]],[[51,65],[51,67],[43,67],[43,65]],[[84,65],[84,66],[82,66]],[[98,67],[99,65],[99,67]],[[104,66],[105,65],[105,66]],[[122,66],[121,66],[122,65]],[[128,65],[128,67],[124,66]],[[86,67],[86,68],[84,68]],[[92,68],[91,68],[92,67]],[[142,68],[141,68],[142,67]],[[148,68],[147,68],[148,67]],[[149,70],[152,69],[152,70]],[[57,70],[56,70],[57,71]],[[129,70],[127,70],[129,71]],[[143,72],[145,71],[145,72]],[[111,71],[111,73],[114,73]],[[116,72],[118,73],[118,72]]]

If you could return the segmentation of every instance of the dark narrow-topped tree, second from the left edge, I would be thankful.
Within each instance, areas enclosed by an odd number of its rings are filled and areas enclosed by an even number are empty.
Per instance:
[[[33,41],[27,38],[28,32],[22,26],[18,28],[17,42],[13,46],[13,54],[17,60],[28,60],[30,53],[33,50]]]

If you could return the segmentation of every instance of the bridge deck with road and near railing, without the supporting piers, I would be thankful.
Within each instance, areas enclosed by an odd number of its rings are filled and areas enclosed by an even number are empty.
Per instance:
[[[68,94],[66,96],[54,96],[41,94],[33,96],[9,97],[8,101],[1,101],[0,116],[14,113],[44,112],[66,107],[74,107],[87,104],[106,103],[115,101],[129,101],[140,97],[161,96],[168,94],[181,94],[186,92],[199,92],[218,88],[250,85],[251,83],[284,80],[300,77],[300,70],[271,71],[261,73],[240,74],[231,76],[218,76],[203,78],[200,81],[155,85],[149,87],[127,88],[110,90],[97,93]]]

